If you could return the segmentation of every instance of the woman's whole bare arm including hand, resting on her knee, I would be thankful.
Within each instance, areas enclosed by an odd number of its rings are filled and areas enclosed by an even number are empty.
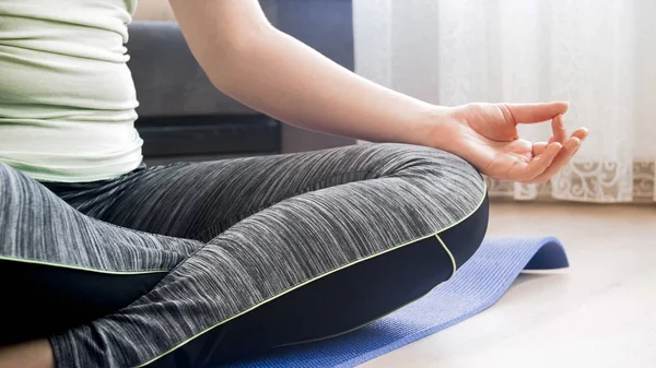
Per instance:
[[[276,29],[257,0],[169,0],[191,52],[226,95],[280,121],[372,142],[449,151],[502,180],[544,182],[587,136],[563,126],[566,103],[441,107],[340,67]],[[517,124],[551,120],[549,142]]]

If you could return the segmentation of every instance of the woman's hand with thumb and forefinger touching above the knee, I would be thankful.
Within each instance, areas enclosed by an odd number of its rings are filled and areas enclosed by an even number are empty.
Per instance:
[[[571,136],[563,127],[566,103],[468,104],[449,108],[435,131],[438,149],[445,149],[476,166],[485,176],[518,182],[546,182],[576,153],[588,131]],[[519,138],[517,124],[551,120],[549,142]]]

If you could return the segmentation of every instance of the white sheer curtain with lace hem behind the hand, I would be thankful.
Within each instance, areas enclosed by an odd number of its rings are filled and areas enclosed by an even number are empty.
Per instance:
[[[656,201],[656,1],[354,0],[355,71],[441,105],[567,99],[590,136],[517,200]],[[523,127],[531,139],[549,124]]]

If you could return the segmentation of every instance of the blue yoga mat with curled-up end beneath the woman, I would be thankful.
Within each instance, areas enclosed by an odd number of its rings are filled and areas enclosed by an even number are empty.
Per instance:
[[[487,238],[449,282],[394,313],[339,337],[288,347],[232,367],[354,367],[489,308],[523,270],[566,266],[565,250],[557,238]]]

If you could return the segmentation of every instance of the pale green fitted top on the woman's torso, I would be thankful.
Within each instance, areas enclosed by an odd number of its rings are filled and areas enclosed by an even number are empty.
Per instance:
[[[0,162],[43,181],[134,169],[136,0],[0,0]]]

